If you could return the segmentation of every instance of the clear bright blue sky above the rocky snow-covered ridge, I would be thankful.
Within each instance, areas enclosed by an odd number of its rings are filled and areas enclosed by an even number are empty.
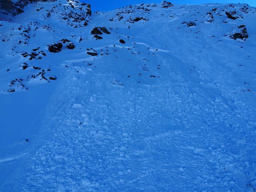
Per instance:
[[[92,11],[108,11],[132,4],[159,3],[162,0],[81,0],[92,5]],[[170,0],[174,4],[204,4],[204,3],[247,3],[256,7],[256,0]]]

